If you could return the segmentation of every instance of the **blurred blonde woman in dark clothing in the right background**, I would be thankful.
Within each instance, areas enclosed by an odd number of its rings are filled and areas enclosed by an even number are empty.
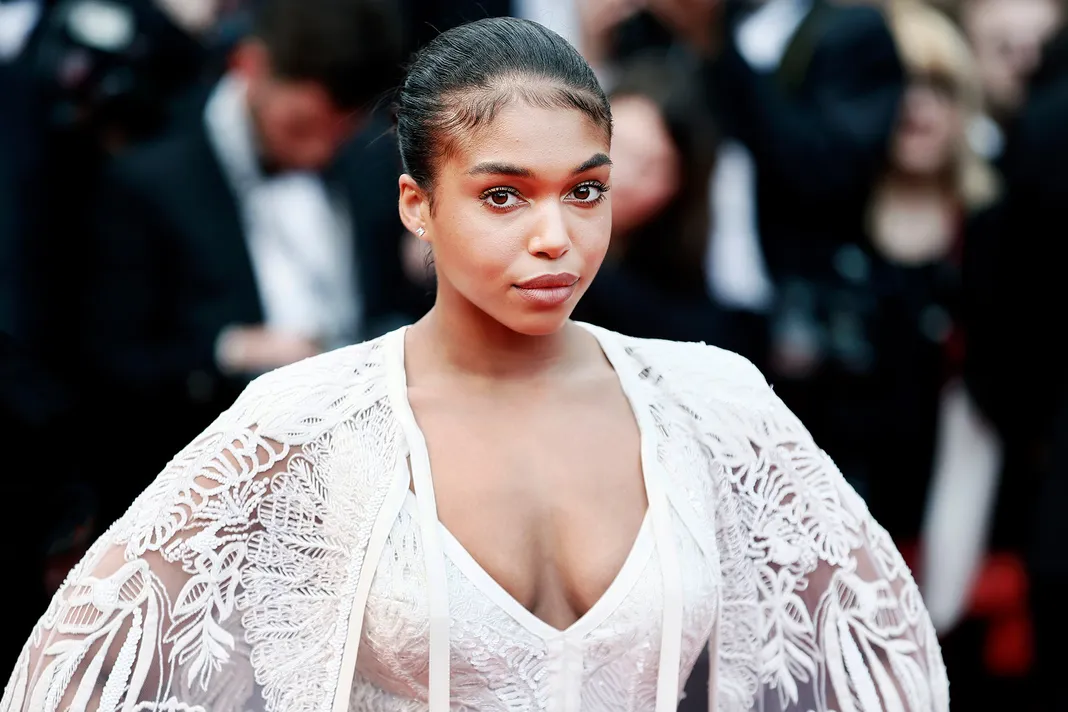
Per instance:
[[[886,15],[906,70],[886,165],[833,271],[784,290],[792,299],[776,332],[792,349],[776,353],[804,373],[780,394],[901,544],[918,536],[939,394],[959,347],[963,217],[994,180],[967,141],[979,93],[960,32],[923,2],[899,0]]]

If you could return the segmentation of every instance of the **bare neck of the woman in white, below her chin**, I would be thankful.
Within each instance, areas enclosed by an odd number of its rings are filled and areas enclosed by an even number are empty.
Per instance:
[[[531,381],[574,361],[577,329],[567,322],[551,334],[520,334],[439,282],[434,308],[411,328],[410,337],[433,354],[433,370],[472,380]]]

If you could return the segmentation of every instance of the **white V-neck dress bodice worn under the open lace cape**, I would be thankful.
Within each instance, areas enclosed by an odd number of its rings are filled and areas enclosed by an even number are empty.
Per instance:
[[[552,712],[649,711],[657,707],[665,606],[662,556],[650,507],[619,572],[602,597],[566,630],[537,618],[498,584],[437,521],[425,441],[411,416],[404,375],[403,331],[391,345],[387,378],[400,414],[415,492],[408,492],[377,563],[364,614],[350,710],[425,712],[429,709],[429,601],[425,529],[434,521],[434,544],[444,561],[449,608],[450,703],[453,710]],[[608,353],[609,360],[613,354]],[[618,374],[617,369],[617,374]],[[628,400],[641,394],[621,377]],[[640,412],[635,408],[635,413]],[[642,469],[662,477],[655,457],[658,433],[638,418]],[[421,475],[425,478],[421,478]],[[656,497],[653,488],[653,497]],[[428,504],[429,503],[429,504]],[[427,512],[426,509],[431,511]],[[681,690],[712,633],[718,574],[684,518],[666,505],[670,555],[680,574]],[[707,537],[706,537],[707,539]]]

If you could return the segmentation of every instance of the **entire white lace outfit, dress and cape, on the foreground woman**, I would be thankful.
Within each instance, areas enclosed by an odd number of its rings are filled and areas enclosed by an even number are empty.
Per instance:
[[[399,330],[257,379],[179,453],[70,573],[0,712],[666,712],[706,646],[712,710],[948,710],[900,556],[756,369],[587,328],[649,510],[568,629],[438,522]]]

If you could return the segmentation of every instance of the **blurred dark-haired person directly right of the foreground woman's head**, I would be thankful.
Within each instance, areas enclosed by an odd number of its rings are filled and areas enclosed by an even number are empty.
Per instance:
[[[703,272],[716,129],[688,69],[646,51],[615,73],[612,247],[576,318],[731,347]]]

